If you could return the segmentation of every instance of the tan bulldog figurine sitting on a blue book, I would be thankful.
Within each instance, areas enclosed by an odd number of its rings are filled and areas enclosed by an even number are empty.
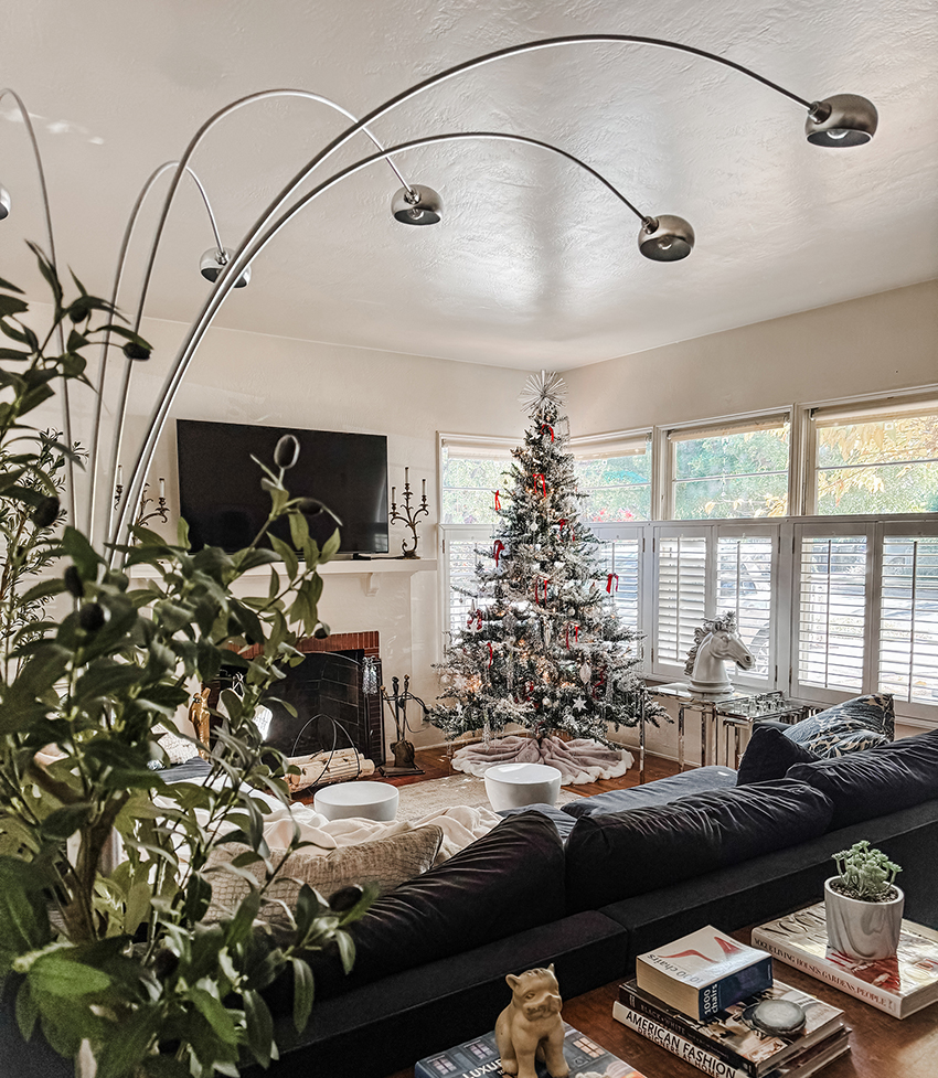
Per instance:
[[[518,1078],[537,1078],[534,1060],[540,1059],[552,1078],[567,1078],[563,1001],[553,963],[546,970],[527,970],[520,976],[509,973],[505,981],[511,1003],[495,1023],[502,1070]]]

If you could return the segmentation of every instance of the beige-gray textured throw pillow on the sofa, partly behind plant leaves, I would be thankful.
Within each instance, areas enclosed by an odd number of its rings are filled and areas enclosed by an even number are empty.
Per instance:
[[[291,854],[277,878],[267,889],[259,917],[271,925],[287,925],[278,901],[296,908],[300,887],[309,884],[326,898],[350,884],[377,884],[379,894],[386,895],[401,884],[431,868],[443,843],[443,829],[435,824],[413,828],[362,842],[355,846],[339,846],[328,854],[311,854],[298,850]],[[239,854],[249,850],[241,843],[225,843],[212,851],[203,869],[212,885],[212,903],[205,920],[231,916],[231,911],[247,895],[249,885],[228,867]],[[270,860],[277,864],[286,851],[271,850]],[[266,874],[263,861],[246,866],[246,871],[263,883]]]

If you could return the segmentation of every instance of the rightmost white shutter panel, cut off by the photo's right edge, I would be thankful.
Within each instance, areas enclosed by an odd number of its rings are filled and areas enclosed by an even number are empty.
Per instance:
[[[880,691],[938,704],[938,536],[886,535],[880,579]]]

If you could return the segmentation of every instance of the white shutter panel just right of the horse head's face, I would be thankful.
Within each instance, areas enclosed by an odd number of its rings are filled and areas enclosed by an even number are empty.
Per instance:
[[[739,636],[755,659],[750,674],[760,679],[774,664],[775,534],[721,534],[716,547],[717,611],[736,615]]]

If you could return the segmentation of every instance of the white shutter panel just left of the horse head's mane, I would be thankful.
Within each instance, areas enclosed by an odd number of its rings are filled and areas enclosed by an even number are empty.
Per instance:
[[[659,533],[658,619],[653,660],[683,668],[694,629],[706,616],[707,536]]]

